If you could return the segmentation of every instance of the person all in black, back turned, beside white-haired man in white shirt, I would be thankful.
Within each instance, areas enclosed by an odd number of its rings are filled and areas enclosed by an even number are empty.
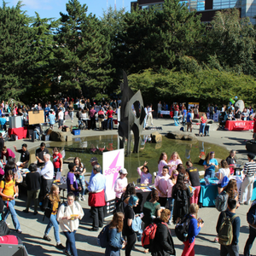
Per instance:
[[[40,192],[41,177],[36,164],[31,164],[28,168],[30,172],[26,174],[27,199],[26,209],[23,212],[28,213],[31,200],[34,201],[34,215],[38,214],[38,195]]]

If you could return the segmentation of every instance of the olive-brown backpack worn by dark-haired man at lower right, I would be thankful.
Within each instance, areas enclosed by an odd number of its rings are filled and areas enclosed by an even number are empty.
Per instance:
[[[223,212],[223,222],[218,230],[218,242],[224,246],[229,246],[233,241],[233,226],[232,221],[237,217],[234,215],[232,218]]]

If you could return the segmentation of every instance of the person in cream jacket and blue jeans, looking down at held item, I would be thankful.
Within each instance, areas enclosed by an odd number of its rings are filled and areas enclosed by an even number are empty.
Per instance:
[[[79,219],[81,220],[84,217],[83,208],[79,205],[79,202],[74,200],[73,192],[67,193],[67,202],[61,204],[57,213],[57,221],[67,237],[66,249],[64,250],[67,256],[78,256],[75,234],[79,229]]]

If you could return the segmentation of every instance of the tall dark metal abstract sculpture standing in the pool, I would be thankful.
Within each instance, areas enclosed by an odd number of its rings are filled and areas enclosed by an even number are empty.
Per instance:
[[[131,154],[131,131],[134,135],[133,153],[139,150],[140,135],[143,131],[143,122],[146,116],[143,104],[143,96],[140,90],[133,93],[128,86],[126,73],[123,71],[124,84],[121,84],[122,98],[119,121],[119,145],[125,147],[125,138],[127,138],[126,155]],[[132,105],[136,114],[132,111]]]

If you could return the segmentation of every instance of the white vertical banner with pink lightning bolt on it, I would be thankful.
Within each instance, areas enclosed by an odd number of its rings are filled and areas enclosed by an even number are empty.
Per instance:
[[[105,207],[105,217],[108,217],[113,214],[115,208],[113,185],[119,177],[119,170],[125,166],[125,149],[104,152],[102,166],[102,174],[106,177],[105,199],[107,206]]]

